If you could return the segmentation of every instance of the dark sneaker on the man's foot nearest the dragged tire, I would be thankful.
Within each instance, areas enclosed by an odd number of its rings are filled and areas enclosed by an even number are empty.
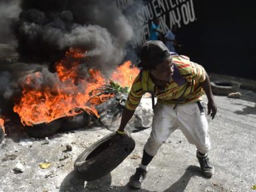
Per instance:
[[[145,179],[147,171],[138,167],[134,175],[130,177],[129,185],[135,189],[141,189],[143,180]]]

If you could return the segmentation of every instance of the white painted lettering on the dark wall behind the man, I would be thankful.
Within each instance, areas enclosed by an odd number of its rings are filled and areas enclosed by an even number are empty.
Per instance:
[[[133,7],[133,0],[117,0],[121,11]],[[135,7],[136,8],[136,7]],[[166,33],[173,25],[181,28],[196,21],[193,0],[152,0],[141,4],[126,15],[134,29],[133,48],[143,44],[149,38],[149,28],[153,19],[160,21],[160,31]]]

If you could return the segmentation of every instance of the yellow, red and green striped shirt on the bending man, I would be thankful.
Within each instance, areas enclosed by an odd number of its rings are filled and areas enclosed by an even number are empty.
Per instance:
[[[173,56],[173,63],[187,83],[178,85],[172,79],[170,83],[165,83],[164,89],[159,89],[153,83],[149,71],[142,71],[142,74],[138,75],[133,81],[125,107],[134,111],[139,105],[143,94],[147,92],[153,92],[157,97],[157,102],[160,103],[172,103],[175,105],[178,99],[181,105],[201,101],[201,96],[204,93],[201,82],[205,81],[205,69],[201,65],[190,61],[189,57],[184,55]]]

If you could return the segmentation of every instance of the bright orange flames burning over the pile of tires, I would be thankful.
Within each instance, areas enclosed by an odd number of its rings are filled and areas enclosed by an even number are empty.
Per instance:
[[[21,117],[23,125],[49,123],[60,117],[81,113],[77,112],[77,108],[97,115],[94,106],[105,102],[114,95],[106,93],[96,95],[97,97],[94,95],[92,98],[92,91],[106,85],[107,79],[97,69],[89,69],[88,77],[79,77],[79,59],[83,58],[85,58],[83,51],[70,49],[67,51],[65,59],[56,63],[57,73],[37,72],[23,78],[21,82],[22,97],[13,108],[13,111]],[[131,66],[132,63],[127,61],[117,67],[111,75],[111,80],[121,86],[130,86],[139,73],[139,69]],[[42,83],[45,79],[47,81],[54,80],[53,83],[45,85]]]

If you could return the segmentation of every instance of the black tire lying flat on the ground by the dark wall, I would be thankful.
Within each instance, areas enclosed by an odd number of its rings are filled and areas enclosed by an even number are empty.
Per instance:
[[[239,91],[240,83],[235,81],[212,81],[211,91],[214,95],[229,95]]]

